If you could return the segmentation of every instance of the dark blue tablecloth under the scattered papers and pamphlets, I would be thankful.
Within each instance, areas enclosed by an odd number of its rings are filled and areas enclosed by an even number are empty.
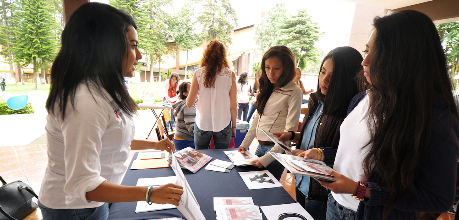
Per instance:
[[[215,149],[200,151],[213,157],[214,159],[229,161],[229,158],[226,157],[223,152],[227,150],[228,149]],[[133,160],[137,158],[137,154],[138,153],[135,153]],[[131,164],[129,164],[129,168],[131,165],[132,161]],[[182,169],[201,207],[202,214],[206,217],[206,220],[215,219],[215,211],[213,211],[213,197],[252,197],[253,203],[258,206],[295,203],[295,200],[282,187],[249,190],[244,181],[242,181],[241,176],[238,174],[242,171],[255,171],[261,169],[252,166],[235,167],[230,173],[222,173],[205,170],[204,168],[206,166],[207,164],[198,170],[196,174],[191,173],[187,169]],[[161,169],[128,169],[121,185],[135,186],[139,178],[171,175],[175,174],[170,167]],[[136,204],[137,202],[112,203],[108,219],[145,220],[171,217],[184,218],[178,209],[135,213]],[[264,215],[263,219],[266,220]]]

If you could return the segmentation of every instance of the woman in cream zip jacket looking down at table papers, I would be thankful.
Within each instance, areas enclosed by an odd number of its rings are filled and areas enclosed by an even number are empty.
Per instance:
[[[262,157],[274,147],[274,142],[262,129],[271,133],[298,130],[303,96],[301,88],[293,81],[296,75],[295,58],[288,47],[276,45],[269,48],[263,55],[261,70],[258,80],[260,91],[257,96],[257,112],[238,149],[245,152],[257,136],[258,146],[255,154],[258,157]],[[257,167],[263,165],[260,158]],[[271,173],[276,179],[280,179],[284,167],[277,161],[273,166]]]

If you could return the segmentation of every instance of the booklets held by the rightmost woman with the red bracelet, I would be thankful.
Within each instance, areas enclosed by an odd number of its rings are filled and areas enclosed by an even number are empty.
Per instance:
[[[325,169],[331,168],[320,160],[304,159],[298,156],[275,152],[269,153],[292,174],[311,176],[314,179],[325,182],[334,182],[337,180],[325,171]]]

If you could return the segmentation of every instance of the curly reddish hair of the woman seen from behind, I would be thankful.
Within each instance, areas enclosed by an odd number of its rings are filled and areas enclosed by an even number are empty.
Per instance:
[[[225,45],[214,39],[204,51],[201,59],[201,67],[206,67],[204,74],[204,86],[206,88],[214,87],[215,77],[223,67],[229,68]]]

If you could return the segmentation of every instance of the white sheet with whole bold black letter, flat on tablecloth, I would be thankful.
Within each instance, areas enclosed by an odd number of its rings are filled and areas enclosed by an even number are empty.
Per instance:
[[[240,172],[242,180],[249,190],[281,187],[279,181],[268,170]]]

